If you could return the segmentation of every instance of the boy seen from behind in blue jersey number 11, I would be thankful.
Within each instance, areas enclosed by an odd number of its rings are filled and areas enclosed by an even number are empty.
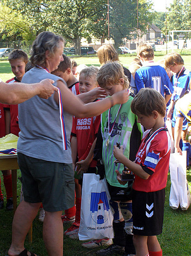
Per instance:
[[[153,88],[165,97],[166,103],[171,98],[173,87],[164,68],[155,64],[154,51],[149,44],[140,44],[137,48],[137,57],[143,66],[135,73],[137,91],[142,88]]]

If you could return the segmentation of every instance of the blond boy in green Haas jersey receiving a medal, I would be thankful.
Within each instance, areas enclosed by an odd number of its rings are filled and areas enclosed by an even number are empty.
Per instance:
[[[128,78],[124,75],[122,65],[117,61],[107,62],[100,68],[97,73],[97,82],[108,96],[129,88]],[[124,147],[125,156],[135,160],[142,131],[140,125],[137,124],[137,116],[130,108],[132,99],[130,96],[125,104],[113,106],[101,115],[102,157],[111,197],[110,206],[114,212],[114,244],[98,251],[98,255],[124,253],[124,251],[127,254],[135,253],[132,243],[131,193],[126,196],[127,191],[131,191],[132,180],[125,185],[118,183],[114,163],[116,159],[113,154],[114,145],[119,142]],[[117,170],[122,173],[123,169],[123,165],[119,163]]]

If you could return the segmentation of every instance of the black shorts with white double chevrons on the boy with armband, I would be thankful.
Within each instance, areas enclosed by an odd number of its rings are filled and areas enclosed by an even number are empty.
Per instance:
[[[165,188],[155,192],[133,190],[133,234],[158,235],[162,233]]]

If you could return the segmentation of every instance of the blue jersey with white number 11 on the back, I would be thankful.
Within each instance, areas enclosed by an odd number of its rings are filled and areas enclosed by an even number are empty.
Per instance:
[[[135,84],[137,91],[142,88],[153,88],[160,92],[163,97],[173,93],[173,86],[166,70],[154,62],[146,62],[136,71]]]

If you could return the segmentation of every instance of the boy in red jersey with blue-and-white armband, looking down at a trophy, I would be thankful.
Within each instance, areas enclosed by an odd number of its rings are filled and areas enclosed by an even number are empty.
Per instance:
[[[133,243],[136,256],[160,256],[156,235],[162,233],[165,187],[171,153],[171,139],[165,127],[165,99],[153,89],[141,89],[132,100],[131,110],[146,131],[135,163],[123,155],[123,147],[114,146],[114,156],[135,174],[133,183]],[[121,174],[116,171],[119,183]]]

